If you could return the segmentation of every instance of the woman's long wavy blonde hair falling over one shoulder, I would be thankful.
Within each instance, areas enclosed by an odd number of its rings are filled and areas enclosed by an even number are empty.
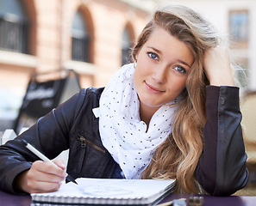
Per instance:
[[[155,27],[162,27],[188,45],[195,61],[190,68],[183,100],[172,125],[172,135],[157,148],[153,161],[141,179],[177,179],[176,190],[185,193],[200,191],[195,171],[203,152],[203,127],[206,123],[205,87],[209,85],[204,70],[206,50],[219,45],[214,27],[194,10],[180,5],[165,5],[153,13],[132,51],[136,55]]]

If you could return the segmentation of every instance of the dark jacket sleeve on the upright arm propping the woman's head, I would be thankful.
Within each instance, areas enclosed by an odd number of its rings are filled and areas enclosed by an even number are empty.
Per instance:
[[[239,88],[206,88],[207,122],[196,179],[212,195],[228,196],[247,184],[247,154],[239,104]]]

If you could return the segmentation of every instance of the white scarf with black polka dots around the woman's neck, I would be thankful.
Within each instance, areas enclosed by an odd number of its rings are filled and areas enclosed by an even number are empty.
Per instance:
[[[104,88],[99,107],[103,146],[120,165],[126,179],[140,179],[154,149],[171,134],[175,111],[175,106],[161,106],[147,130],[147,124],[140,121],[133,76],[134,64],[124,65]]]

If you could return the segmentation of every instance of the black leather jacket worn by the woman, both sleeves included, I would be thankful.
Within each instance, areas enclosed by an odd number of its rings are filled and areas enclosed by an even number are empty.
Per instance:
[[[247,184],[244,143],[240,128],[238,88],[208,87],[209,120],[204,130],[204,149],[196,178],[213,195],[229,195]],[[82,89],[15,140],[0,147],[0,189],[16,193],[13,182],[38,160],[21,139],[53,159],[70,149],[67,173],[72,177],[111,178],[116,162],[103,147],[98,118],[92,108],[99,106],[103,88]]]

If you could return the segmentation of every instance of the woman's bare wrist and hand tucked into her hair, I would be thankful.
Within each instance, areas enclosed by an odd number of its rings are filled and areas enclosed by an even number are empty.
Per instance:
[[[204,70],[210,85],[234,86],[233,70],[226,47],[216,46],[205,52]]]

